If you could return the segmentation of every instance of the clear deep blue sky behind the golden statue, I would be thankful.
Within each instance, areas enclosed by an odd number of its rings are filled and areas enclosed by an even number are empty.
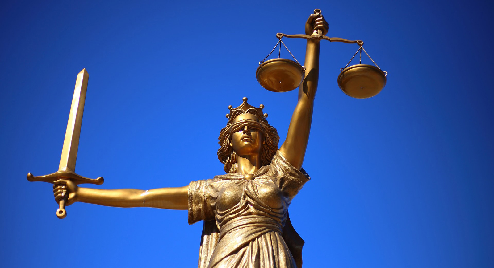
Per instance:
[[[297,99],[255,69],[275,34],[364,40],[389,73],[376,97],[336,84],[355,44],[323,42],[304,168],[290,206],[304,267],[494,266],[492,7],[481,1],[3,1],[0,171],[4,267],[196,267],[186,211],[76,203],[51,185],[76,75],[89,72],[76,171],[99,188],[187,185],[223,173],[228,105],[265,105],[283,139]],[[484,2],[484,1],[482,1]],[[303,61],[305,41],[285,40]],[[283,55],[289,57],[288,53]],[[365,63],[370,63],[366,61]]]

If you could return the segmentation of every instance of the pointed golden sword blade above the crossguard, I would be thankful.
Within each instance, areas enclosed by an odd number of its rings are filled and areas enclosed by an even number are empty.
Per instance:
[[[87,81],[89,74],[86,69],[77,75],[74,97],[70,106],[69,122],[65,131],[62,157],[58,170],[75,171],[77,160],[77,149],[79,148],[79,137],[81,136],[82,113],[84,112],[84,101],[86,99]]]

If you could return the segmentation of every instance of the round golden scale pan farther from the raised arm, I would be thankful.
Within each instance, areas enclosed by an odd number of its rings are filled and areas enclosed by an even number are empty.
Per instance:
[[[350,97],[367,99],[381,92],[386,85],[386,75],[387,73],[375,66],[352,65],[338,75],[338,86]]]

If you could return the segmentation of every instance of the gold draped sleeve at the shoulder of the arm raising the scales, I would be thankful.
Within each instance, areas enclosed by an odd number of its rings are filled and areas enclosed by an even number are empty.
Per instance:
[[[302,171],[304,171],[302,169]],[[282,190],[289,199],[293,198],[302,186],[310,179],[309,175],[293,167],[285,157],[276,151],[273,161],[269,164],[266,175]]]

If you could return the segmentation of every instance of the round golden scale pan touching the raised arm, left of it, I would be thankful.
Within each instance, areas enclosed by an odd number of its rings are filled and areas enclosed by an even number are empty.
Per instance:
[[[272,59],[262,63],[255,72],[261,86],[269,91],[287,92],[302,83],[305,67],[288,59]]]

